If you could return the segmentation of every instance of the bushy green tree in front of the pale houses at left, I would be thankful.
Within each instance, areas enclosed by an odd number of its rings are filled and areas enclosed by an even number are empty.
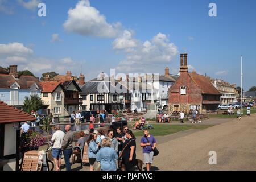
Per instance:
[[[43,100],[38,96],[25,97],[23,110],[27,113],[31,113],[32,110],[38,111],[44,106]]]

